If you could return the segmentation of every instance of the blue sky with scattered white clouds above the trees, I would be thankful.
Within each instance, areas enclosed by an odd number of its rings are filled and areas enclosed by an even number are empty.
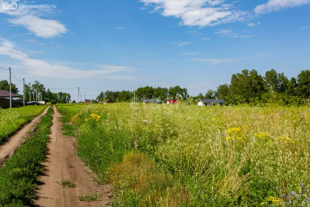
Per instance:
[[[310,0],[14,1],[16,10],[5,2],[0,67],[50,88],[179,85],[197,95],[243,69],[291,78],[310,65]],[[55,8],[20,7],[43,4]]]

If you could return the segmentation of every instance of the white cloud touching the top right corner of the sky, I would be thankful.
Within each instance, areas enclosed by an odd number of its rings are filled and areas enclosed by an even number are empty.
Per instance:
[[[302,6],[309,3],[310,0],[269,0],[265,4],[260,4],[255,7],[254,12],[256,14],[265,14],[272,11]]]

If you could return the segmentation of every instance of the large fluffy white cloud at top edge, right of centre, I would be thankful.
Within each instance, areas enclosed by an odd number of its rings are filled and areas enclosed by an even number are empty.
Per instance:
[[[233,21],[243,20],[248,15],[246,11],[234,8],[234,5],[224,4],[225,0],[141,0],[144,6],[153,7],[152,12],[163,16],[180,18],[181,25],[213,26]]]

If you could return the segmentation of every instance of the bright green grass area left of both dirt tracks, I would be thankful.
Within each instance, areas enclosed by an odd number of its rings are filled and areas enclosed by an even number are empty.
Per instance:
[[[23,106],[19,108],[0,109],[0,144],[15,133],[20,127],[41,114],[45,106]]]

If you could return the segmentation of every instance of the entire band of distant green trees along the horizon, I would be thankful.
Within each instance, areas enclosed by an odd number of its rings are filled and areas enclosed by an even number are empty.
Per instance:
[[[25,85],[25,99],[29,100],[29,89],[31,89],[31,99],[42,96],[42,99],[52,103],[66,103],[71,101],[69,93],[52,93],[50,89],[45,89],[43,84],[34,81],[34,84]],[[9,90],[9,83],[6,80],[0,81],[0,90]],[[12,92],[19,90],[12,83]],[[153,88],[151,86],[141,87],[133,91],[105,91],[100,92],[93,103],[111,99],[115,102],[133,102],[134,94],[137,101],[144,99],[176,99],[196,104],[199,98],[224,99],[226,105],[236,105],[247,103],[250,105],[264,104],[309,104],[310,97],[310,70],[302,70],[296,78],[288,79],[284,73],[277,73],[276,70],[267,71],[264,76],[258,74],[256,70],[242,70],[241,73],[233,74],[230,83],[219,85],[217,90],[206,89],[206,93],[199,93],[198,96],[186,94],[187,88],[174,86],[170,88]],[[75,103],[75,101],[73,101]]]

